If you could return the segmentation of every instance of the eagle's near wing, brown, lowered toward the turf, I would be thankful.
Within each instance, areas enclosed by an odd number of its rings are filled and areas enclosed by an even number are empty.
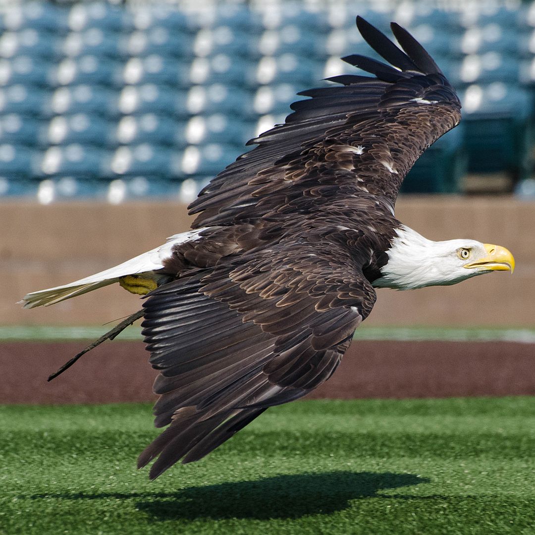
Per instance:
[[[296,235],[150,294],[142,325],[160,370],[156,425],[170,424],[139,458],[158,456],[151,478],[330,377],[375,302],[365,259],[340,246],[359,239],[335,227]]]

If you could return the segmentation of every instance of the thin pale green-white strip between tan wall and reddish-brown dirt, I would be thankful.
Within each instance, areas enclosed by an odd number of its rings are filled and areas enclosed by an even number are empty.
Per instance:
[[[0,326],[0,342],[13,340],[85,340],[96,339],[111,325],[95,327]],[[117,340],[142,340],[139,325],[126,328]],[[360,327],[356,340],[517,342],[535,343],[535,328],[453,328],[453,327]]]

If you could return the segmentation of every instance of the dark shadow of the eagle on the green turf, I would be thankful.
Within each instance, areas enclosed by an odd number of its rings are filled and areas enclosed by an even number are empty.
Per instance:
[[[136,507],[157,520],[300,518],[347,509],[350,500],[379,496],[381,490],[428,482],[406,473],[304,473],[189,487]]]

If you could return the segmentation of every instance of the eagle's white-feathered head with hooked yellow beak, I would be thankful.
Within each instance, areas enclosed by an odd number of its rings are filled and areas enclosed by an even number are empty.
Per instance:
[[[475,240],[432,241],[406,226],[397,232],[386,251],[383,276],[373,281],[376,288],[447,286],[483,273],[515,269],[515,259],[505,247]]]

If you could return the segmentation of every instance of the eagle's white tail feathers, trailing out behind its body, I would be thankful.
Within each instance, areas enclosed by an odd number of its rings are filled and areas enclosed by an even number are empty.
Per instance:
[[[70,299],[71,297],[113,284],[113,282],[117,282],[121,277],[126,277],[127,275],[142,273],[152,274],[154,271],[163,268],[165,259],[170,258],[172,255],[173,246],[186,241],[197,240],[198,234],[202,230],[203,229],[201,228],[195,231],[175,234],[174,236],[171,236],[171,238],[168,238],[165,244],[156,247],[156,249],[152,249],[147,253],[131,258],[122,264],[101,271],[100,273],[95,273],[89,277],[70,282],[69,284],[29,293],[25,295],[19,303],[23,305],[23,308],[35,308],[43,305],[48,307],[59,301],[64,301],[65,299]]]

